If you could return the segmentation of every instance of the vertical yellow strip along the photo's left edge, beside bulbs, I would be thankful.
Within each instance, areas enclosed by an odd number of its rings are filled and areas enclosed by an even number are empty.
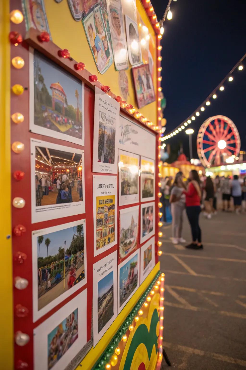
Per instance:
[[[0,173],[4,174],[4,196],[1,198],[1,233],[0,246],[4,263],[1,266],[0,317],[1,369],[13,369],[13,282],[12,282],[12,246],[11,238],[11,166],[10,166],[10,30],[9,1],[0,6]],[[6,278],[7,277],[7,278]]]

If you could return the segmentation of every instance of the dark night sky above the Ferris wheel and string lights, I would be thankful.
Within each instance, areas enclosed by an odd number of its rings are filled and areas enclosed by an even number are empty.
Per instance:
[[[167,0],[152,0],[160,20]],[[191,115],[246,53],[246,0],[177,0],[171,2],[173,19],[164,22],[162,44],[162,88],[167,100],[166,132]],[[229,117],[246,150],[246,59],[243,71],[224,84],[217,98],[189,125],[194,129],[193,157],[201,124],[217,114]],[[183,142],[189,157],[188,135],[182,132],[168,139],[171,147]]]

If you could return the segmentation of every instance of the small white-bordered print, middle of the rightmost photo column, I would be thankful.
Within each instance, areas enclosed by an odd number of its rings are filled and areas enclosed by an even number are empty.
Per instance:
[[[155,235],[155,202],[141,204],[140,243]]]

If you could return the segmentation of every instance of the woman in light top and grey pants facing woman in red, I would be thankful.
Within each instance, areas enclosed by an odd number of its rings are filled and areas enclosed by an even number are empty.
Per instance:
[[[183,183],[183,174],[179,172],[173,182],[170,194],[171,215],[172,221],[172,234],[173,244],[184,243],[186,240],[182,238],[183,227],[183,211],[186,207],[186,196],[183,190],[186,189]]]

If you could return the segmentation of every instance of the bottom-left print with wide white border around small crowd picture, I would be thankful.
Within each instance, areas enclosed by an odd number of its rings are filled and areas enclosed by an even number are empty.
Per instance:
[[[34,369],[65,369],[87,342],[87,289],[34,329]]]

